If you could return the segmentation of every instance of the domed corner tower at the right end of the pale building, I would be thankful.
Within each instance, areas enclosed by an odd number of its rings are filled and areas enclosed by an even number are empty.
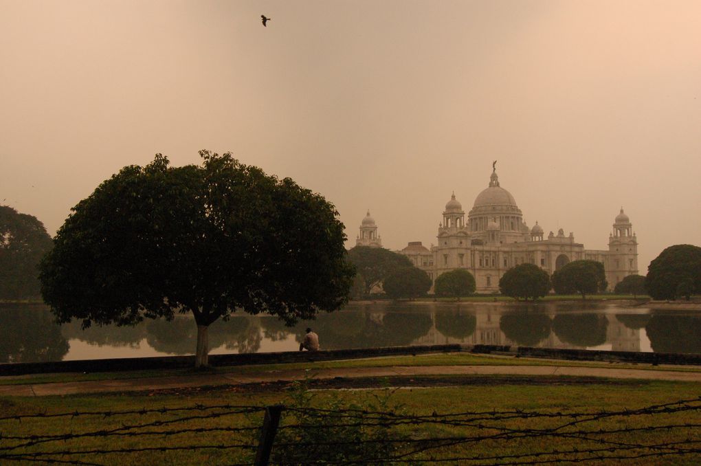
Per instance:
[[[630,219],[620,208],[613,221],[613,233],[608,237],[608,268],[606,280],[609,289],[628,275],[638,273],[638,238]]]

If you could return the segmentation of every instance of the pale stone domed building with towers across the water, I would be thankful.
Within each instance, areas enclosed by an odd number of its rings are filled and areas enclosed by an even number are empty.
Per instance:
[[[615,217],[608,250],[585,249],[575,241],[573,233],[565,235],[562,228],[557,235],[550,231],[547,236],[537,221],[529,228],[515,198],[500,186],[496,168],[489,186],[475,198],[467,219],[455,193],[445,205],[442,217],[437,245],[428,249],[421,242],[409,242],[400,251],[416,267],[426,270],[434,281],[444,272],[465,268],[475,276],[477,292],[498,292],[503,273],[519,263],[533,263],[552,274],[566,263],[580,259],[604,264],[609,289],[623,277],[638,273],[637,237],[622,208]],[[362,241],[369,241],[362,236],[368,218],[376,235],[377,227],[368,212],[356,244],[365,245]]]

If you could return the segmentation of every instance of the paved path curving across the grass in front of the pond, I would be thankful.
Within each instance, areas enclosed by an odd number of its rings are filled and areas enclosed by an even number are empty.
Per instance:
[[[261,371],[259,374],[191,374],[188,376],[132,378],[116,381],[85,381],[36,383],[27,385],[0,385],[0,396],[72,395],[74,393],[128,392],[159,390],[203,385],[240,385],[314,378],[359,378],[387,376],[437,375],[514,375],[514,376],[593,376],[608,378],[639,378],[657,381],[701,383],[701,372],[647,371],[604,367],[569,366],[392,366],[356,367],[346,369],[305,369]],[[76,374],[76,377],[79,375]]]

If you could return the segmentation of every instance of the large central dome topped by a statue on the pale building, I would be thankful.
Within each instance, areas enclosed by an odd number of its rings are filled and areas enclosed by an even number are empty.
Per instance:
[[[475,205],[468,214],[468,226],[470,233],[475,238],[488,240],[491,233],[488,231],[489,222],[496,221],[501,232],[501,242],[522,242],[523,215],[516,205],[514,196],[499,186],[499,177],[496,167],[489,178],[489,186],[475,199]]]

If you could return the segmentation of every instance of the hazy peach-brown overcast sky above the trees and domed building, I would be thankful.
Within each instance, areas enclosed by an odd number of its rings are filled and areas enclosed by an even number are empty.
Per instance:
[[[0,0],[0,204],[54,235],[125,165],[231,151],[401,249],[498,160],[546,235],[606,249],[623,207],[644,275],[701,245],[700,25],[697,0]]]

